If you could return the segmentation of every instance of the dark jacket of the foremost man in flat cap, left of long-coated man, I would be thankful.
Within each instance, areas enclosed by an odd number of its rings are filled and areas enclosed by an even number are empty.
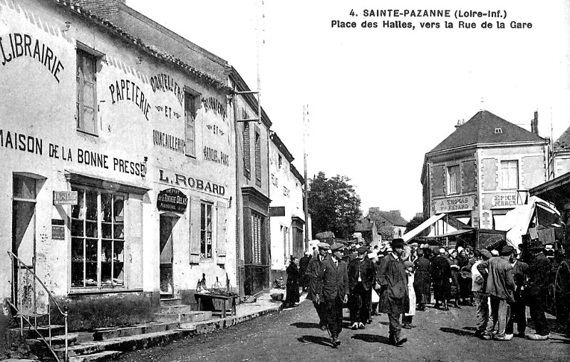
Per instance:
[[[346,263],[342,260],[338,260],[338,266],[335,266],[333,257],[325,259],[318,269],[316,281],[316,294],[323,299],[331,300],[337,296],[343,299],[349,293]]]

